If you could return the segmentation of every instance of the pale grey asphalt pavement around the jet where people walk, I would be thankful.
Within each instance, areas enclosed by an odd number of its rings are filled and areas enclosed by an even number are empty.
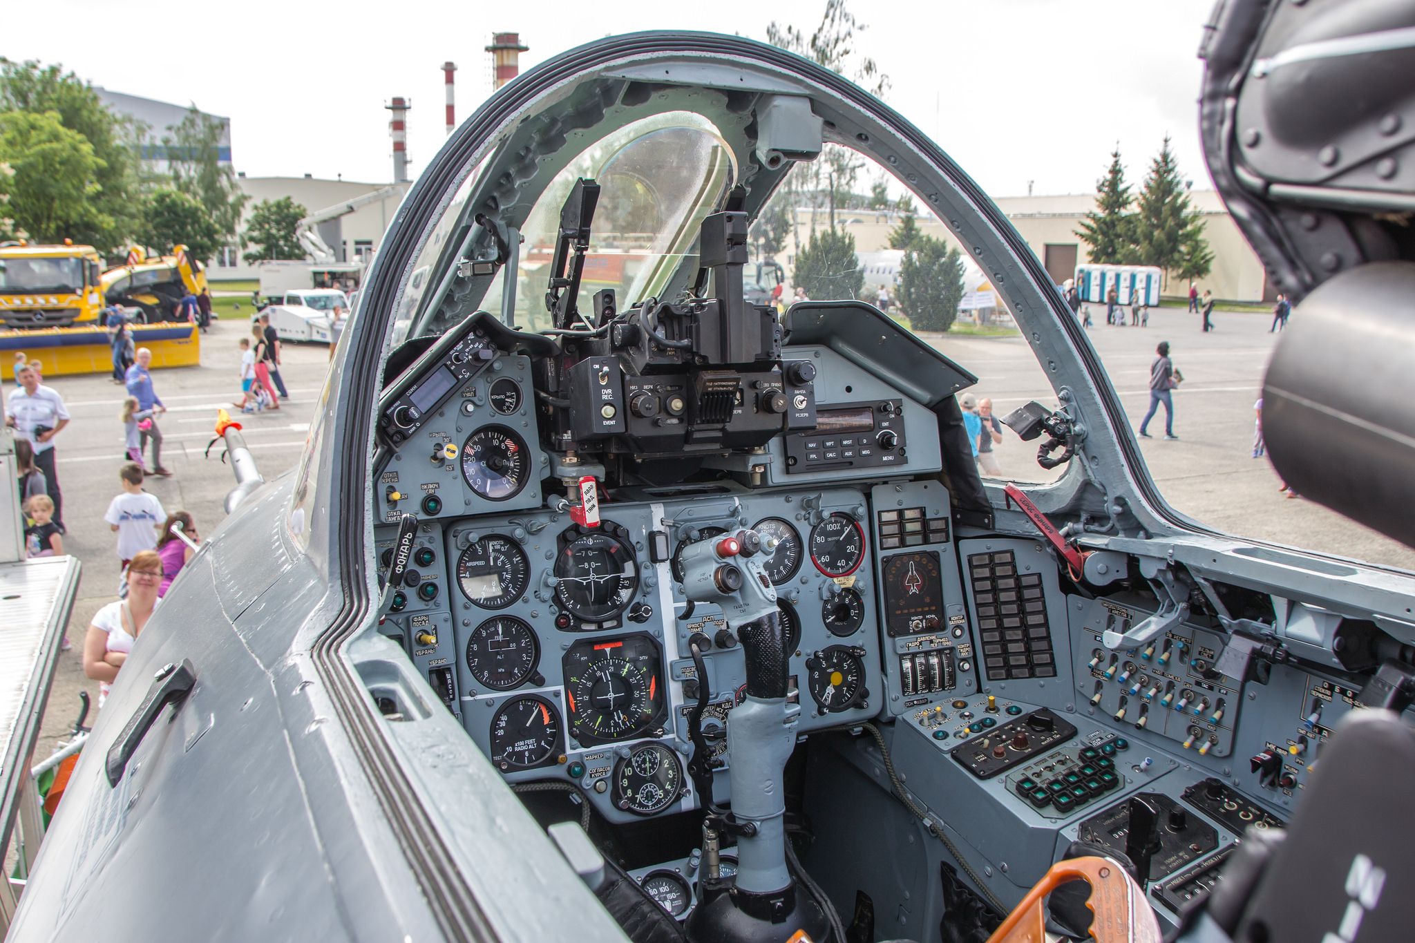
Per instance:
[[[1091,342],[1109,370],[1132,423],[1149,403],[1149,365],[1155,345],[1169,341],[1174,363],[1184,373],[1174,393],[1174,431],[1179,441],[1159,437],[1140,450],[1170,503],[1215,529],[1266,541],[1310,547],[1343,557],[1415,568],[1415,553],[1365,527],[1303,499],[1282,495],[1266,459],[1254,459],[1254,400],[1262,370],[1276,341],[1268,334],[1269,315],[1217,312],[1217,329],[1201,334],[1197,315],[1177,310],[1150,312],[1146,328],[1097,324]],[[161,417],[166,434],[163,462],[173,478],[151,478],[147,489],[171,512],[192,513],[198,533],[209,533],[222,519],[222,499],[233,486],[231,469],[219,458],[202,455],[212,438],[216,409],[238,397],[239,349],[243,321],[216,321],[202,336],[201,365],[154,372],[158,394],[168,406]],[[974,338],[930,335],[945,353],[979,376],[976,396],[989,396],[1002,416],[1037,399],[1054,402],[1046,375],[1020,336]],[[290,399],[279,411],[242,416],[246,440],[262,472],[270,478],[299,461],[313,414],[313,403],[328,368],[328,351],[316,345],[286,345],[282,373]],[[119,566],[113,534],[103,523],[109,500],[119,492],[123,458],[119,409],[125,396],[106,376],[55,377],[74,420],[58,437],[59,479],[64,486],[68,534],[65,550],[83,561],[79,598],[69,636],[74,650],[61,655],[50,696],[41,752],[64,735],[78,707],[78,691],[98,698],[98,684],[83,677],[79,650],[92,615],[116,598]],[[1160,414],[1160,417],[1163,413]],[[1005,433],[998,447],[1003,472],[1019,482],[1054,476],[1037,468],[1036,444]]]

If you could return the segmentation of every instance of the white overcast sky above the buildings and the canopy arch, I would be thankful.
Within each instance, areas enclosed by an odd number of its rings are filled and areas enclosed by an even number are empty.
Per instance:
[[[519,31],[522,71],[597,37],[716,30],[766,40],[773,20],[809,34],[825,0],[507,4],[299,3],[115,6],[4,3],[0,55],[62,62],[116,92],[231,119],[236,170],[386,182],[383,105],[412,99],[416,174],[444,140],[441,64],[457,62],[457,117],[491,92],[492,31]],[[1132,180],[1170,134],[1180,172],[1207,188],[1199,146],[1201,64],[1213,0],[853,0],[859,49],[890,76],[887,102],[995,197],[1090,192],[1119,141]],[[715,17],[723,11],[732,18]]]

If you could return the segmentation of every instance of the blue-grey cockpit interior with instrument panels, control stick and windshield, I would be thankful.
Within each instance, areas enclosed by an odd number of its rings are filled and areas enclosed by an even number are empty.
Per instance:
[[[466,167],[396,300],[378,632],[543,827],[583,828],[633,939],[974,939],[1078,854],[1172,930],[1415,639],[1313,605],[1324,564],[1156,541],[1044,274],[951,215],[921,143],[831,109],[606,69]],[[999,410],[1006,481],[959,409],[989,365],[873,304],[842,174],[917,201],[1049,375]],[[747,301],[785,245],[787,297]]]

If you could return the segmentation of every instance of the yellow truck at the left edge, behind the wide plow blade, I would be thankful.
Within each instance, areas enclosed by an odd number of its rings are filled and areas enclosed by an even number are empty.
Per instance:
[[[0,245],[0,322],[7,328],[98,324],[102,271],[93,246]]]

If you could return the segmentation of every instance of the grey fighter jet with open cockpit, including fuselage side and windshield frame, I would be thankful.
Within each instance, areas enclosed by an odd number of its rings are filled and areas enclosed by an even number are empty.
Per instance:
[[[1409,375],[1409,187],[1262,182],[1404,146],[1409,119],[1367,133],[1384,105],[1312,130],[1309,90],[1354,86],[1293,75],[1408,57],[1283,51],[1283,24],[1360,25],[1333,6],[1221,4],[1206,146],[1300,300],[1276,468],[1409,544],[1415,421],[1373,406]],[[1341,165],[1274,157],[1296,137]],[[862,264],[906,218],[928,252]],[[125,667],[16,926],[1407,939],[1415,575],[1176,510],[1118,392],[1149,351],[1112,372],[1092,336],[839,75],[691,33],[548,59],[409,189],[299,468],[232,458],[239,506]],[[115,916],[120,869],[171,912]]]

